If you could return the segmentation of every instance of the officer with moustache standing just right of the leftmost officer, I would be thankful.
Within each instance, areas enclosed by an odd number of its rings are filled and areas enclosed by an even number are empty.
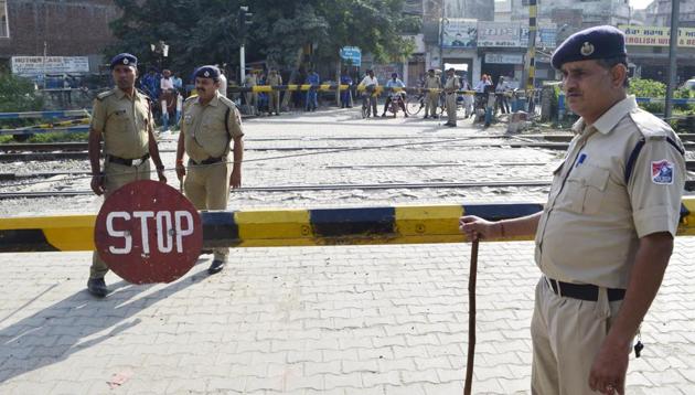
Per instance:
[[[220,70],[202,66],[195,72],[197,96],[183,104],[183,121],[177,148],[177,175],[184,193],[197,210],[225,210],[229,188],[242,185],[244,143],[242,117],[228,98],[221,96]],[[229,142],[234,140],[234,164],[228,160]],[[183,153],[189,156],[188,171]],[[227,263],[229,248],[215,248],[207,273],[215,274]]]

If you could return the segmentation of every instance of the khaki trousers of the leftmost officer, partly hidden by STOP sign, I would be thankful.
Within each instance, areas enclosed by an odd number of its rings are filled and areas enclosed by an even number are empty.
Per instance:
[[[104,199],[111,195],[117,189],[125,184],[139,180],[150,179],[150,161],[146,160],[140,166],[125,166],[106,161],[104,163]],[[92,254],[92,267],[89,278],[104,278],[108,273],[108,265],[95,250]]]

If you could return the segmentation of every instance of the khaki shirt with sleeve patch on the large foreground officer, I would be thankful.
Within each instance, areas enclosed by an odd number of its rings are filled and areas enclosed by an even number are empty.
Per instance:
[[[639,238],[657,232],[675,236],[686,179],[683,145],[633,96],[594,125],[579,119],[573,129],[578,135],[554,172],[538,223],[535,260],[556,280],[624,289]]]

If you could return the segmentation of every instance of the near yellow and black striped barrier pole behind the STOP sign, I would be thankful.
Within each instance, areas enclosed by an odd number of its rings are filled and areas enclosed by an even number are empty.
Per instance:
[[[202,212],[205,247],[461,243],[461,215],[520,217],[539,203]],[[0,253],[93,250],[95,215],[0,218]],[[681,206],[678,235],[695,235],[695,198]],[[515,239],[531,239],[515,238]]]

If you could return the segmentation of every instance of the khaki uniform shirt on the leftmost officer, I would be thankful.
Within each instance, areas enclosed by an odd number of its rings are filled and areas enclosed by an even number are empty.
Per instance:
[[[124,159],[149,152],[148,128],[153,128],[150,100],[138,90],[130,98],[119,88],[94,100],[90,128],[104,136],[104,153]]]

